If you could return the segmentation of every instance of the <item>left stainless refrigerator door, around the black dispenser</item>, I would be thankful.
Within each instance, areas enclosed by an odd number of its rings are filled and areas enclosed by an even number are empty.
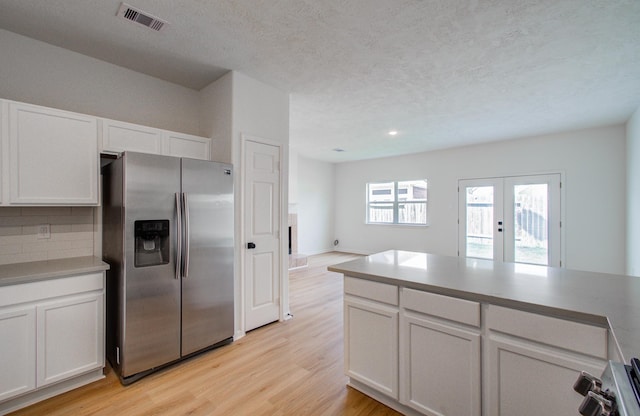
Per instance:
[[[176,192],[180,191],[180,160],[125,153],[124,304],[121,375],[135,373],[180,358],[180,279],[176,279]],[[136,267],[135,222],[168,220],[170,255],[167,264]],[[149,248],[149,247],[147,247]]]

